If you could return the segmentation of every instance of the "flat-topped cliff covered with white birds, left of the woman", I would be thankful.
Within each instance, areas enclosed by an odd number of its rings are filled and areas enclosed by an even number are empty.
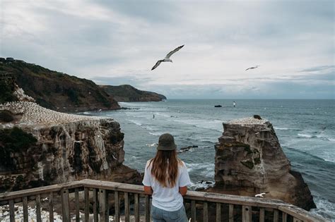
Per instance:
[[[0,107],[20,116],[0,128],[5,135],[0,138],[0,192],[83,178],[141,183],[141,175],[122,164],[119,123],[55,111],[28,118],[37,107],[31,102]]]

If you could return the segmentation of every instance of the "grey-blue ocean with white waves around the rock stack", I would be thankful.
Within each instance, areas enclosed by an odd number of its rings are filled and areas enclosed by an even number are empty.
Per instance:
[[[258,114],[273,125],[283,152],[310,187],[317,204],[312,212],[335,221],[335,100],[296,99],[168,99],[121,102],[118,111],[86,112],[114,118],[124,132],[124,164],[143,172],[155,155],[158,137],[169,132],[177,147],[198,146],[179,154],[192,187],[214,181],[214,144],[222,123]],[[221,104],[223,107],[215,108]],[[153,118],[154,116],[154,118]]]

